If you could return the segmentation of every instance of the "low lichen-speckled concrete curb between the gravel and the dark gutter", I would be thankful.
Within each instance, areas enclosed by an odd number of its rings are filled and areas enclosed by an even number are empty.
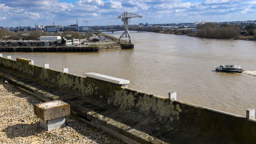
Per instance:
[[[29,92],[30,94],[33,94],[37,96],[38,98],[41,98],[45,101],[50,100],[56,100],[59,99],[58,96],[53,95],[49,92],[42,92],[42,90],[38,90],[38,88],[29,85],[24,84],[21,82],[18,82],[17,80],[13,79],[12,77],[8,77],[6,75],[0,75],[0,79],[7,80],[10,84],[14,84],[21,90],[25,92]],[[96,127],[104,132],[107,132],[109,134],[112,134],[113,136],[122,139],[124,142],[127,142],[128,144],[159,144],[163,142],[162,140],[159,140],[155,137],[149,136],[146,133],[140,132],[136,129],[131,128],[130,126],[127,126],[125,124],[116,122],[113,119],[107,118],[105,116],[102,116],[100,114],[97,114],[96,112],[90,111],[86,114],[83,114],[80,112],[80,110],[74,110],[74,108],[70,107],[72,109],[72,114],[80,117],[83,121],[86,123],[92,125],[93,127]],[[90,120],[87,121],[86,119]],[[102,129],[103,128],[103,129]],[[166,144],[165,142],[163,142]]]

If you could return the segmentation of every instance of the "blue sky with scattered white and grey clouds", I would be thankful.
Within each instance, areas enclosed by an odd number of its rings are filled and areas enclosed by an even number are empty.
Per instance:
[[[131,24],[256,20],[256,0],[0,0],[0,26],[117,25],[123,12],[143,16]]]

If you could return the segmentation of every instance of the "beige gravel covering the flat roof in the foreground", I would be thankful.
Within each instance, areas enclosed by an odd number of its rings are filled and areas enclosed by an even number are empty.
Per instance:
[[[20,92],[16,94],[15,92]],[[67,126],[45,131],[34,114],[33,104],[43,100],[0,80],[0,143],[90,143],[122,144],[120,139],[93,128],[75,116]]]

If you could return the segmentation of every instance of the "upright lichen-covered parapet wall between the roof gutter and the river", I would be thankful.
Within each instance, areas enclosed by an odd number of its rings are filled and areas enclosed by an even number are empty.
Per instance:
[[[140,92],[122,87],[121,84],[32,65],[22,58],[11,60],[0,57],[0,67],[79,91],[109,105],[153,115],[167,125],[196,128],[197,131],[216,138],[228,137],[241,143],[256,143],[256,121],[244,116]]]

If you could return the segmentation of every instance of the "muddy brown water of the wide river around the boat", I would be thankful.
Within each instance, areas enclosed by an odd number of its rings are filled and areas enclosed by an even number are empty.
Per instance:
[[[115,32],[116,37],[121,31]],[[12,59],[83,76],[95,72],[130,80],[129,88],[245,116],[256,107],[256,41],[205,39],[153,32],[130,32],[134,50],[92,53],[2,52]],[[112,33],[109,33],[112,36]],[[220,64],[241,65],[245,72],[216,72]]]

